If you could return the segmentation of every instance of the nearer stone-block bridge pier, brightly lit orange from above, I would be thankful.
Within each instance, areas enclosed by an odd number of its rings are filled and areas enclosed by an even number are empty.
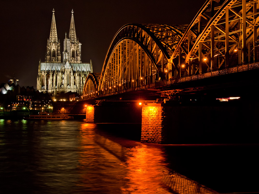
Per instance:
[[[141,142],[163,143],[161,103],[147,103],[142,107]]]

